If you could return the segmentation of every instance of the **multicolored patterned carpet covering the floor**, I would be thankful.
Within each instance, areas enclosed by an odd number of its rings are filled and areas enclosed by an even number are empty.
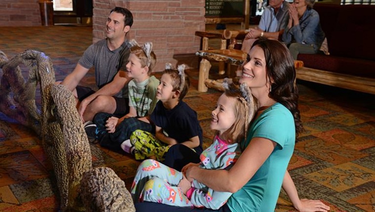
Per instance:
[[[42,51],[54,63],[56,79],[62,80],[92,42],[91,34],[91,27],[0,27],[0,50],[9,59],[25,49]],[[198,92],[198,71],[190,70],[189,75],[192,86],[185,102],[199,114],[207,147],[214,134],[209,129],[210,111],[221,93]],[[215,72],[212,75],[218,77]],[[90,71],[83,85],[93,82]],[[288,170],[300,197],[321,199],[333,212],[375,211],[374,95],[297,84],[306,131],[299,137]],[[96,145],[91,150],[94,167],[112,168],[130,187],[138,161]],[[0,211],[53,212],[58,205],[55,176],[40,138],[0,113]],[[276,211],[294,211],[283,191]]]

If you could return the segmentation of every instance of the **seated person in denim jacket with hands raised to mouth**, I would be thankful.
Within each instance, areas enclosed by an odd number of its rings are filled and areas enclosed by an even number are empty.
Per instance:
[[[319,14],[312,9],[314,2],[315,0],[294,0],[289,7],[289,22],[282,41],[287,44],[294,60],[297,60],[299,53],[318,53],[324,41]]]

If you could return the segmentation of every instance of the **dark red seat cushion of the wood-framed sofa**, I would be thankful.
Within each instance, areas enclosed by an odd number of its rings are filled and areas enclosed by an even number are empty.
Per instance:
[[[297,60],[309,68],[375,79],[375,61],[323,54],[298,54]]]

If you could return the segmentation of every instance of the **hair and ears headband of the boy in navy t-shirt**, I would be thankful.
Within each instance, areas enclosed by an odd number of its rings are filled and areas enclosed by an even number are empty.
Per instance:
[[[187,94],[190,86],[189,77],[185,74],[185,64],[178,65],[177,69],[170,63],[165,64],[165,70],[163,74],[169,74],[172,78],[172,91],[179,90],[180,96],[178,100],[182,100]]]

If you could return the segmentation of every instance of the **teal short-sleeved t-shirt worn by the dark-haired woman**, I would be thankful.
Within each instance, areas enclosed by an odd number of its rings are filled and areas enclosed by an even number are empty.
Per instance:
[[[295,126],[292,114],[280,103],[268,107],[249,127],[243,147],[247,147],[254,137],[270,139],[277,145],[250,181],[229,198],[227,205],[232,212],[275,211],[294,150]]]

